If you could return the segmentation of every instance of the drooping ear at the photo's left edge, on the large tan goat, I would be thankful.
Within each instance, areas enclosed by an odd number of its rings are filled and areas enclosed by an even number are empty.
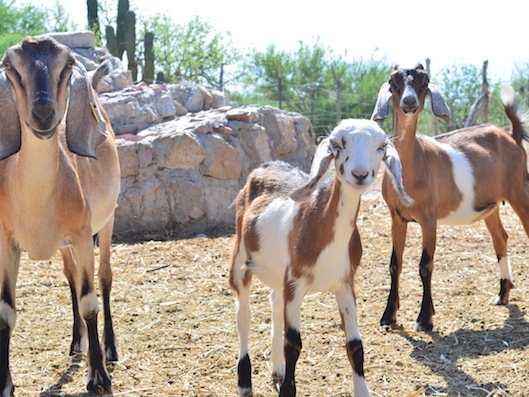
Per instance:
[[[22,144],[22,132],[15,105],[13,85],[6,76],[5,70],[0,69],[0,160],[17,153]]]

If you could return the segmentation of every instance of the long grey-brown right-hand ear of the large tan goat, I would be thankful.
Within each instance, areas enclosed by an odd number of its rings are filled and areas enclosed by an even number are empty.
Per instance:
[[[96,158],[96,148],[106,137],[105,120],[98,106],[86,69],[76,62],[66,115],[66,142],[72,153]]]

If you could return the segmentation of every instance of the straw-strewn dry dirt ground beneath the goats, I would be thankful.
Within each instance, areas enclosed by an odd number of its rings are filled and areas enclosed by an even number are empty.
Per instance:
[[[413,330],[422,286],[420,230],[410,225],[399,327],[379,319],[389,291],[390,219],[375,190],[363,200],[364,246],[356,278],[365,372],[373,396],[529,396],[528,239],[508,205],[516,288],[494,306],[499,270],[483,222],[439,227],[433,276],[434,331]],[[234,297],[227,268],[232,236],[143,241],[116,239],[112,309],[120,361],[109,365],[114,396],[236,396]],[[256,396],[270,382],[268,289],[253,284],[251,358]],[[71,305],[59,256],[23,259],[11,347],[15,395],[85,396],[86,358],[68,356]],[[344,334],[331,294],[307,296],[302,309],[299,396],[353,396]]]

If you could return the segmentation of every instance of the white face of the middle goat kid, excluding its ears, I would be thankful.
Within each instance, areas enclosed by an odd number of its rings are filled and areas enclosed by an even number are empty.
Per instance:
[[[376,178],[384,157],[387,138],[373,121],[342,121],[329,136],[336,174],[344,186],[363,192]]]

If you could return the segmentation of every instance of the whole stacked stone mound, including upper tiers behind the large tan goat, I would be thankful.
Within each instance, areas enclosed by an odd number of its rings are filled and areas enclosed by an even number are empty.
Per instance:
[[[121,194],[115,232],[210,233],[234,225],[233,201],[250,171],[280,159],[305,171],[315,151],[309,120],[259,105],[232,108],[210,87],[134,84],[121,61],[94,47],[92,32],[48,34],[91,72],[117,135]]]

